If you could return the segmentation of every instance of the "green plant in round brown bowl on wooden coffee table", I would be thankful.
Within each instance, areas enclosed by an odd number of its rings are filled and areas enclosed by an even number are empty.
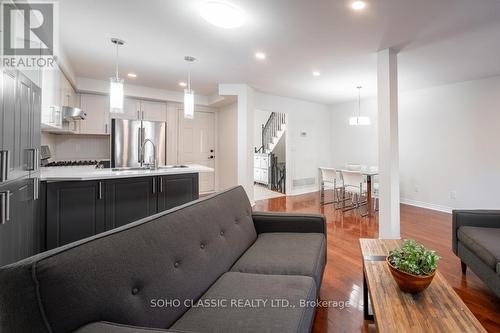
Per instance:
[[[387,264],[399,288],[416,294],[424,291],[432,282],[439,259],[441,257],[436,252],[414,240],[406,240],[389,252]]]

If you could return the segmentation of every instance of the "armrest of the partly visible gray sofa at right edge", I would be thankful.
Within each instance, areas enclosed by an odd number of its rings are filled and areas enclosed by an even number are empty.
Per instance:
[[[455,254],[457,254],[458,229],[463,226],[500,228],[500,210],[454,210],[451,230]]]

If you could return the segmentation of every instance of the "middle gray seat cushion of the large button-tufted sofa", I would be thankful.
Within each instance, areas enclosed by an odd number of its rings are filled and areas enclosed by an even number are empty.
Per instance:
[[[289,306],[277,306],[278,299],[289,301]],[[301,300],[316,300],[316,284],[308,276],[228,272],[195,303],[211,301],[218,306],[193,306],[170,329],[207,333],[309,332],[314,307],[301,306]]]

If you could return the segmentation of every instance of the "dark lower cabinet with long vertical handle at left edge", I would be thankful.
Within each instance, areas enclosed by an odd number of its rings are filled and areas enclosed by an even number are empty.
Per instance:
[[[39,201],[34,200],[33,193],[33,179],[29,178],[0,186],[0,266],[32,256],[41,249]]]

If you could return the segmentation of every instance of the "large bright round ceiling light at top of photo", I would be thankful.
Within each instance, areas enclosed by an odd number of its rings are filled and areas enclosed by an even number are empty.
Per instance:
[[[205,2],[200,8],[205,21],[219,28],[233,29],[245,23],[245,13],[238,7],[222,1]]]

